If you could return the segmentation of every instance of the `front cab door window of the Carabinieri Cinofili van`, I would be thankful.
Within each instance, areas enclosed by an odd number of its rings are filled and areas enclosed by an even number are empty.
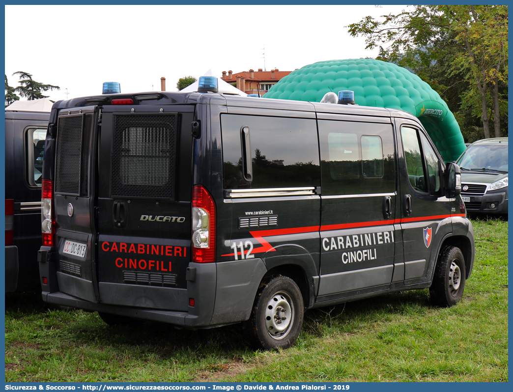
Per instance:
[[[423,193],[438,192],[440,190],[438,156],[431,148],[426,136],[410,127],[402,127],[401,136],[411,187]],[[421,142],[419,142],[419,138]],[[424,160],[428,171],[427,175],[424,171]],[[426,178],[429,178],[429,184],[426,183]]]

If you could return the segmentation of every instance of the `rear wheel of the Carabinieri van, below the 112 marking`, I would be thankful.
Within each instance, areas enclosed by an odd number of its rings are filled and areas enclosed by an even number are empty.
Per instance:
[[[282,275],[260,283],[251,316],[243,325],[247,342],[256,349],[286,349],[298,339],[305,313],[295,282]]]

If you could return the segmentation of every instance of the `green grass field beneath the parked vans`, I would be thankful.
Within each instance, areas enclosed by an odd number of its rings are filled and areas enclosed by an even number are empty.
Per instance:
[[[508,381],[508,222],[472,223],[476,262],[458,305],[433,306],[425,289],[309,310],[281,352],[251,351],[238,325],[109,327],[7,293],[6,381]]]

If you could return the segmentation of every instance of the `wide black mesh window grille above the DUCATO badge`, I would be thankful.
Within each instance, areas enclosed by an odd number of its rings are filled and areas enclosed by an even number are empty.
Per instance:
[[[177,114],[114,116],[112,197],[174,200]]]

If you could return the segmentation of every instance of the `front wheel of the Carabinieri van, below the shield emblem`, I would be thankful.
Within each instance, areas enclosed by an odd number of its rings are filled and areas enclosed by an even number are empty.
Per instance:
[[[460,248],[448,246],[442,250],[429,288],[431,300],[439,306],[456,305],[465,289],[465,259]]]

